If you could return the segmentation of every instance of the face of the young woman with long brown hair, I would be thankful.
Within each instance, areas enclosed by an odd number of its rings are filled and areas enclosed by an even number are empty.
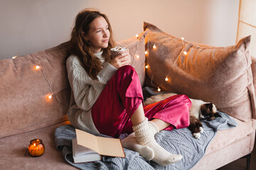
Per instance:
[[[95,18],[92,23],[90,23],[90,30],[85,39],[94,47],[94,52],[100,52],[102,48],[108,46],[110,38],[110,30],[107,21],[102,16]]]

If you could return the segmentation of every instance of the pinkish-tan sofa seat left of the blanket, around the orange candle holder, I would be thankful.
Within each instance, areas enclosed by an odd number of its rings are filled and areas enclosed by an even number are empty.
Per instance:
[[[0,169],[75,169],[70,166],[54,142],[55,129],[69,122],[50,125],[47,128],[33,130],[0,139]],[[30,140],[35,138],[43,140],[45,153],[41,157],[24,156]]]

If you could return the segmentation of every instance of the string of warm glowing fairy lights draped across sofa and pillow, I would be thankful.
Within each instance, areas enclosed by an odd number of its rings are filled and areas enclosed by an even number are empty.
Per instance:
[[[146,59],[147,59],[147,57],[149,57],[150,51],[151,51],[151,50],[157,50],[158,47],[156,47],[156,45],[154,44],[154,45],[152,45],[151,48],[149,48],[149,42],[150,42],[150,41],[149,41],[149,35],[146,35],[146,36],[147,36],[147,38],[148,38],[147,49],[145,50],[145,57],[146,57]],[[134,55],[134,60],[135,60],[135,59],[139,60],[138,51],[139,51],[139,40],[140,40],[140,39],[139,39],[139,35],[135,35],[135,37],[137,38],[137,50],[136,50],[135,55]],[[179,53],[178,57],[176,57],[176,60],[174,61],[173,65],[172,65],[172,67],[171,67],[171,70],[173,69],[174,65],[176,64],[178,58],[179,58],[181,55],[187,55],[187,52],[184,50],[185,45],[184,45],[183,40],[184,40],[184,38],[181,38],[182,49],[181,49],[181,52]],[[17,57],[19,57],[19,56],[14,56],[14,57],[12,57],[12,59],[14,60],[14,59],[16,59]],[[134,63],[134,60],[133,60],[133,62],[132,62],[131,64]],[[44,70],[43,70],[43,67],[41,67],[41,65],[38,64],[37,62],[34,62],[34,69],[35,69],[36,71],[41,70],[41,72],[42,72],[42,74],[43,74],[43,78],[46,80],[46,82],[47,82],[47,84],[48,84],[48,86],[49,86],[49,89],[48,89],[48,90],[49,90],[49,94],[46,95],[46,96],[47,96],[46,98],[47,98],[48,100],[51,100],[51,99],[53,99],[53,96],[55,96],[56,100],[57,100],[59,103],[61,103],[61,101],[59,100],[58,96],[53,93],[53,91],[52,91],[52,86],[51,86],[51,84],[50,84],[50,81],[48,81],[48,79],[46,78],[46,74],[45,74],[45,72],[44,72]],[[147,64],[146,62],[145,62],[145,69],[150,69],[149,64]],[[169,74],[170,74],[171,70],[166,74],[166,78],[164,79],[164,81],[169,81]],[[161,82],[160,85],[158,84],[158,86],[155,86],[154,83],[153,83],[153,78],[154,78],[154,77],[153,77],[153,74],[152,74],[152,76],[151,76],[151,85],[154,86],[154,87],[157,89],[157,91],[161,91],[160,86],[163,84],[163,81]]]

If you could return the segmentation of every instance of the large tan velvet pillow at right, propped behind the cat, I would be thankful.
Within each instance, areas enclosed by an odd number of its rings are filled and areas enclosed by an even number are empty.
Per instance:
[[[250,36],[242,38],[238,45],[213,47],[181,40],[150,23],[144,23],[146,29],[146,75],[152,79],[146,81],[147,86],[210,101],[219,111],[240,120],[255,115]]]

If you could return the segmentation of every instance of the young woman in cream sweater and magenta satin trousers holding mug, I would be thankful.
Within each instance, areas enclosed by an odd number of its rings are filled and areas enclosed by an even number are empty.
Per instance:
[[[107,16],[90,8],[80,11],[71,33],[72,55],[66,62],[72,89],[70,123],[75,128],[112,137],[134,131],[137,144],[126,140],[129,149],[163,166],[181,160],[181,155],[158,145],[154,135],[159,130],[188,127],[191,101],[177,95],[143,106],[142,86],[129,66],[129,52],[112,58],[112,47],[115,45]]]

